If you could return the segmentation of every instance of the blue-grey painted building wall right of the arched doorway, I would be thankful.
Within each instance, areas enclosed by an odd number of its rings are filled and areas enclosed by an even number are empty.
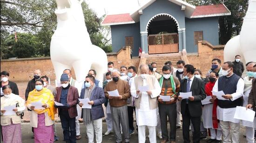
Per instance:
[[[218,17],[185,19],[186,50],[188,53],[198,52],[194,44],[194,31],[203,31],[203,40],[213,45],[219,44]]]

